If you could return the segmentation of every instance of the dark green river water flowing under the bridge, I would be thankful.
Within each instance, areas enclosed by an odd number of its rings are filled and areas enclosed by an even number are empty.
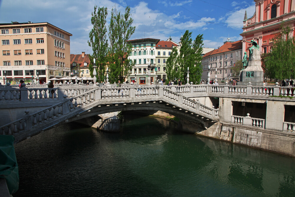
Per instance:
[[[124,116],[120,133],[75,123],[15,145],[13,196],[295,196],[295,159]]]

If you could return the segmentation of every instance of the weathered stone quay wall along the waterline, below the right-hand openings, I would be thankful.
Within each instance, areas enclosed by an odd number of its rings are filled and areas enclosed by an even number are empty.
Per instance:
[[[295,134],[292,133],[220,122],[211,123],[204,127],[186,120],[179,122],[178,129],[183,132],[295,157]]]

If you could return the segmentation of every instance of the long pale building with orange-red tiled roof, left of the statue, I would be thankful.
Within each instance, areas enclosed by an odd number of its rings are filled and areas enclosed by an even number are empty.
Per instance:
[[[210,79],[215,79],[215,74],[217,74],[218,82],[232,79],[232,67],[236,61],[242,60],[242,57],[242,40],[233,42],[228,38],[221,47],[209,51],[203,56],[201,64],[203,73],[201,79],[204,79],[206,82],[208,72],[211,75]]]

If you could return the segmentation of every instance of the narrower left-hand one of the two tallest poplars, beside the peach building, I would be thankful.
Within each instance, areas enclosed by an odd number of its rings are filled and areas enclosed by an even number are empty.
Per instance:
[[[107,54],[108,54],[108,40],[106,39],[106,16],[107,8],[94,6],[94,12],[91,13],[92,30],[89,33],[90,40],[88,44],[92,47],[93,54],[89,55],[90,64],[89,71],[91,77],[93,77],[93,59],[96,59],[96,78],[98,81],[103,81],[106,71]]]

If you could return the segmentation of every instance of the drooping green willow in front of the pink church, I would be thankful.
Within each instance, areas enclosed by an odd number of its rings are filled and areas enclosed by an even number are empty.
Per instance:
[[[295,38],[293,30],[282,25],[281,32],[273,40],[271,52],[262,55],[265,74],[271,79],[295,77]]]

